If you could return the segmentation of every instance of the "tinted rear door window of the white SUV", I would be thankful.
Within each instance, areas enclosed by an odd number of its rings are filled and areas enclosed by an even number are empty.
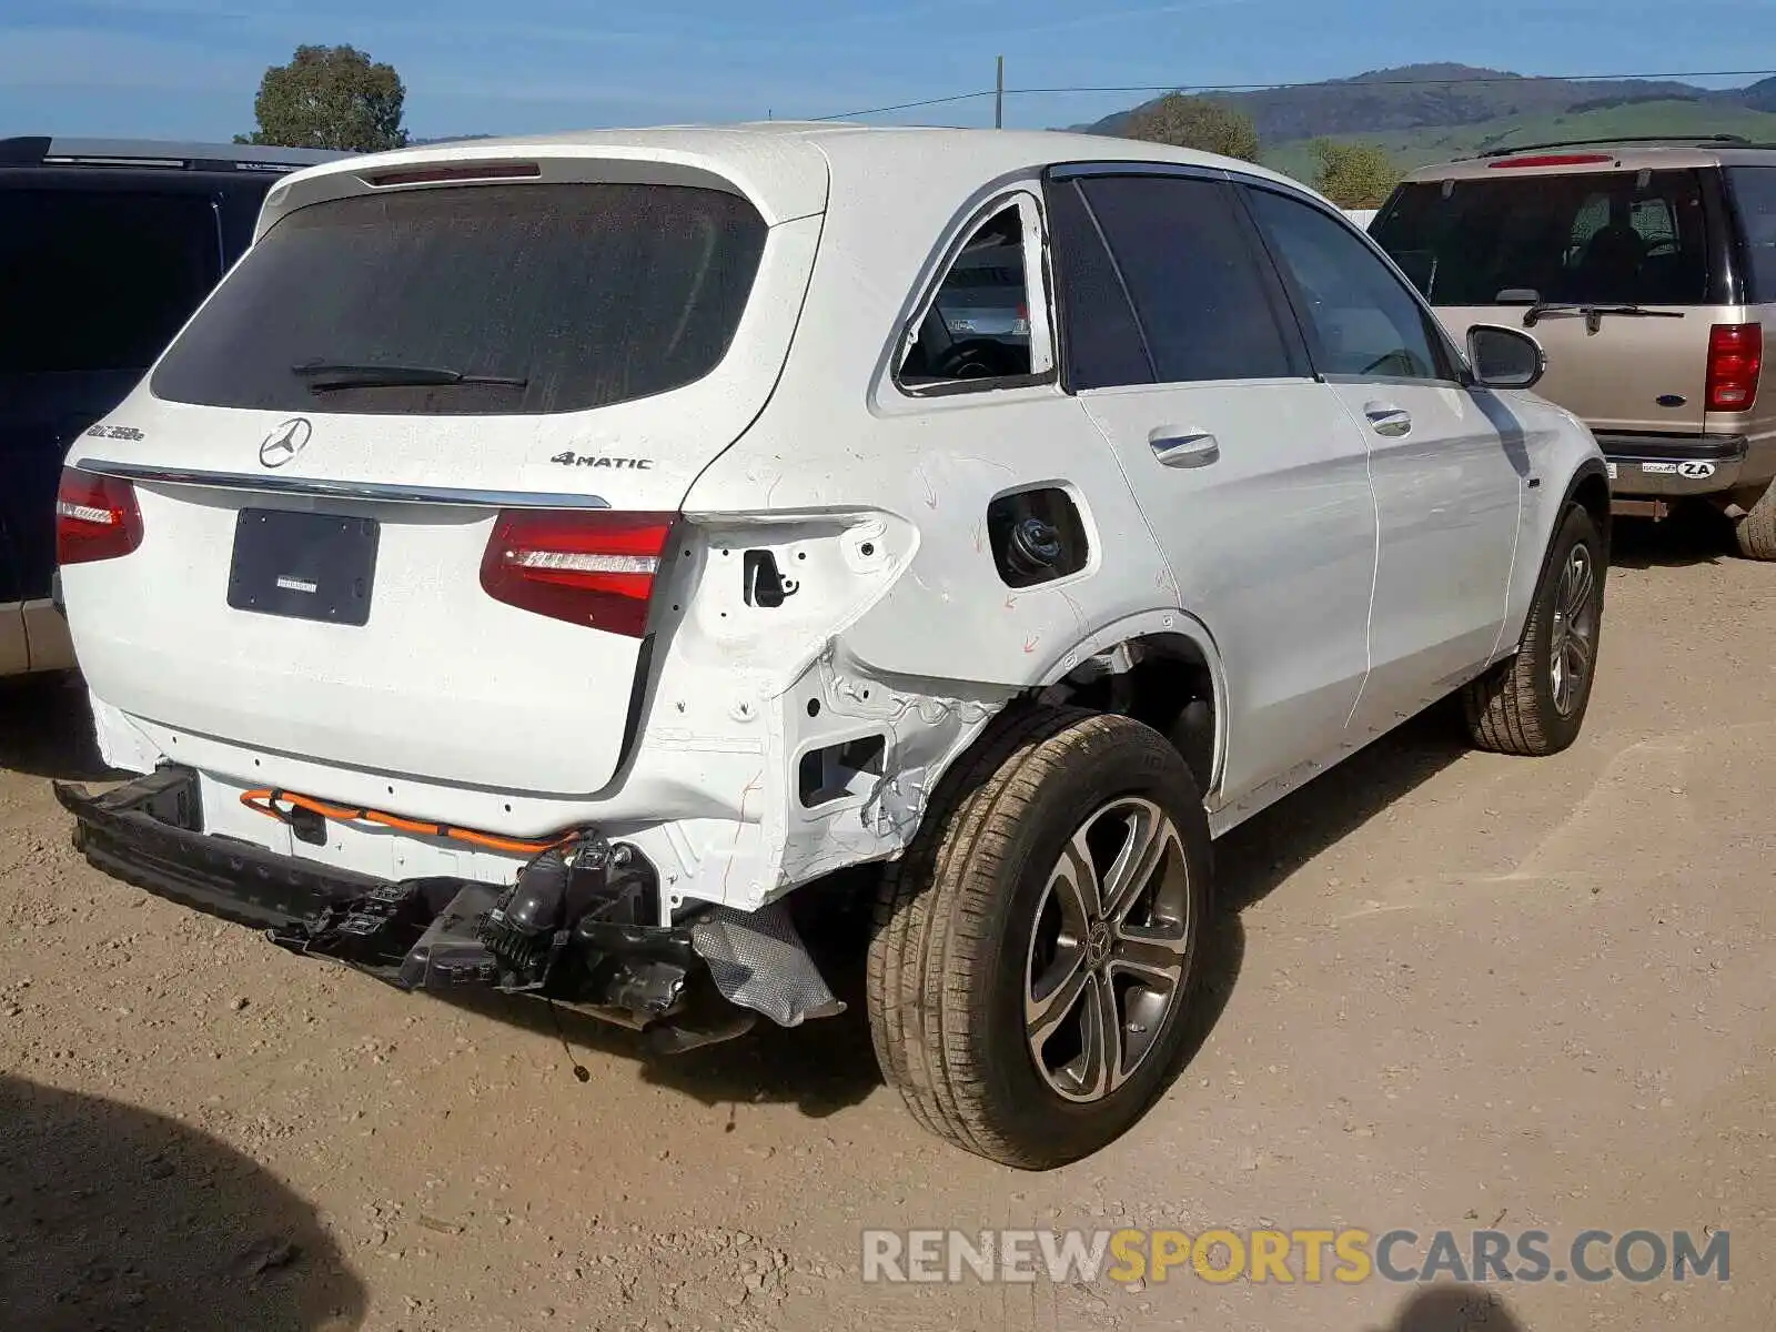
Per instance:
[[[1098,176],[1082,179],[1078,190],[1133,304],[1154,382],[1300,373],[1249,224],[1225,185],[1186,176]],[[1115,297],[1105,291],[1101,275],[1090,275],[1090,265],[1085,281],[1099,289],[1092,297],[1080,293],[1080,304],[1114,307]],[[1071,309],[1074,300],[1067,304]],[[1098,318],[1115,316],[1099,309]],[[1099,378],[1126,378],[1128,357],[1115,355],[1124,375]],[[1090,369],[1092,353],[1082,348],[1080,357]]]

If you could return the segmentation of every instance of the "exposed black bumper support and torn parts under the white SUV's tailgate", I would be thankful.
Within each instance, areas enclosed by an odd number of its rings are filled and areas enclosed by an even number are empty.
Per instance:
[[[652,867],[595,833],[510,888],[389,881],[204,833],[186,767],[99,796],[57,783],[55,797],[75,815],[75,847],[105,874],[401,989],[531,993],[648,1030],[666,1050],[744,1032],[751,1014],[730,1003],[781,1025],[844,1009],[787,916],[776,920],[781,908],[657,924]]]

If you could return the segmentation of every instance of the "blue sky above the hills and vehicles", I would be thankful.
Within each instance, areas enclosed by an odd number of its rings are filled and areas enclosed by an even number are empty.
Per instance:
[[[1451,23],[1451,14],[1485,14]],[[1680,16],[1680,18],[1675,18]],[[407,82],[416,135],[829,115],[1007,85],[1259,83],[1415,60],[1522,73],[1776,66],[1755,0],[0,0],[0,135],[227,139],[268,64],[352,43]],[[1012,98],[1007,123],[1138,96]],[[991,103],[899,121],[991,123]]]

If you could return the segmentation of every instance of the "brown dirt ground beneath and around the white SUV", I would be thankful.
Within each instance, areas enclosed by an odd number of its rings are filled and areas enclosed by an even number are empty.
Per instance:
[[[922,1135],[861,1005],[646,1064],[89,870],[0,694],[0,1327],[1776,1327],[1776,567],[1625,533],[1579,746],[1435,716],[1227,838],[1201,1050],[1046,1176]],[[858,998],[860,968],[838,977]],[[863,1227],[1723,1227],[1732,1280],[879,1286]]]

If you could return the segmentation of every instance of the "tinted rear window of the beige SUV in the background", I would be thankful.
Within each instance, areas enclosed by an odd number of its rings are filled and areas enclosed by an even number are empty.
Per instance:
[[[1437,305],[1709,300],[1694,170],[1407,185],[1371,233]]]

